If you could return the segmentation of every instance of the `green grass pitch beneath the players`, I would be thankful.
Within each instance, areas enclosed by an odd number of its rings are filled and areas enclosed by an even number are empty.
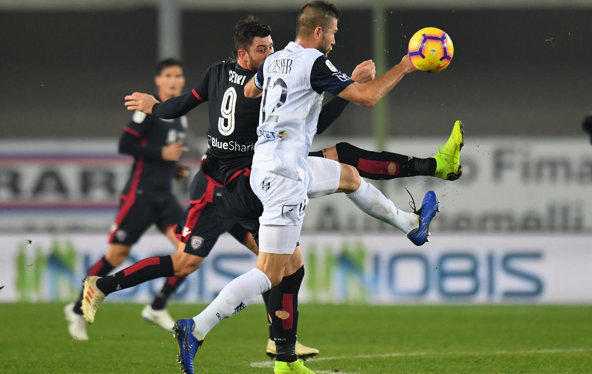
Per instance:
[[[66,330],[63,304],[0,304],[0,373],[179,373],[172,334],[108,303],[91,340]],[[173,318],[202,305],[172,304]],[[301,305],[298,338],[317,373],[590,373],[592,307]],[[221,322],[196,373],[272,373],[262,305]]]

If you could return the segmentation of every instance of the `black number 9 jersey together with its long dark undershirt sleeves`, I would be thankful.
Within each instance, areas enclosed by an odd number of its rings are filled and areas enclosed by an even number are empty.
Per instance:
[[[202,172],[218,186],[227,185],[248,172],[253,163],[261,99],[245,98],[244,85],[255,73],[244,70],[229,58],[210,66],[191,92],[152,107],[156,117],[177,118],[202,102],[208,102],[210,149],[202,163]],[[325,105],[318,117],[318,128],[329,127],[347,103],[336,97]]]

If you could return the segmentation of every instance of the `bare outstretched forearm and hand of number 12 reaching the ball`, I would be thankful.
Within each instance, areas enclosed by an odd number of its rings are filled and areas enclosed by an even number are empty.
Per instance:
[[[339,97],[364,107],[373,107],[405,75],[415,70],[417,69],[411,64],[409,56],[403,56],[401,62],[393,66],[384,75],[366,83],[353,83],[340,92]]]

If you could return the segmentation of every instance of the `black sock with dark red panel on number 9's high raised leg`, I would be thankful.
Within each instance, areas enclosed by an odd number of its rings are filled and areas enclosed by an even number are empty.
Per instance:
[[[355,167],[363,178],[390,180],[416,175],[434,176],[436,173],[433,157],[419,159],[387,151],[367,151],[349,143],[337,143],[335,148],[339,162]]]

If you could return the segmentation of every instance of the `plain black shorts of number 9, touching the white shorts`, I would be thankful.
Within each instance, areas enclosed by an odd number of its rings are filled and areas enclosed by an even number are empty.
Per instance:
[[[258,241],[259,217],[263,214],[263,204],[251,189],[249,174],[241,175],[230,182],[222,191],[222,200],[226,209]]]

